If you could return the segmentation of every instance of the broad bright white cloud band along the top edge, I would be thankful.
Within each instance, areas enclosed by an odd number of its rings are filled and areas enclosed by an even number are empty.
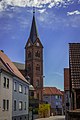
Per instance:
[[[58,6],[58,4],[69,3],[72,0],[2,0],[0,2],[0,10],[2,11],[8,5],[18,6],[18,7],[38,7],[43,8],[45,5],[48,5],[49,8],[53,6]]]

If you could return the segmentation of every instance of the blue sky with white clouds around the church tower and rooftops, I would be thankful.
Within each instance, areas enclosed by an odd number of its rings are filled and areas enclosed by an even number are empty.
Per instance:
[[[25,62],[33,7],[44,46],[44,86],[63,90],[69,43],[80,43],[80,0],[0,0],[0,49],[12,61]]]

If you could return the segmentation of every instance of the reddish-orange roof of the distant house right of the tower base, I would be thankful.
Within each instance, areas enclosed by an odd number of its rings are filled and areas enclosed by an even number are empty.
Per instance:
[[[56,87],[44,87],[43,95],[63,95]]]

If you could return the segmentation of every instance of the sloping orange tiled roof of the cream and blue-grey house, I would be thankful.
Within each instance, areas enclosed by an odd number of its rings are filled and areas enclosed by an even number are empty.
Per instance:
[[[10,71],[13,75],[17,76],[21,80],[28,83],[28,81],[24,78],[24,76],[20,73],[20,71],[17,69],[17,67],[11,62],[11,60],[8,58],[4,52],[0,50],[0,59],[4,63],[5,67]]]

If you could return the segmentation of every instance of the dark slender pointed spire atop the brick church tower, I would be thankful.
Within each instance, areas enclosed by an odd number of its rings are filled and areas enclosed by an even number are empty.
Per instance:
[[[32,41],[32,43],[34,43],[37,38],[38,38],[38,32],[35,21],[35,8],[33,8],[33,20],[32,20],[29,39]]]

